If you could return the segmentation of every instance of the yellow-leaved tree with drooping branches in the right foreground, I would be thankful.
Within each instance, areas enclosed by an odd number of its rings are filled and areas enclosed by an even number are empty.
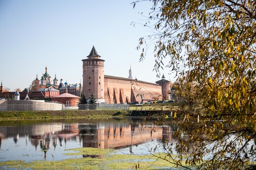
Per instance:
[[[154,44],[155,70],[176,72],[177,90],[194,106],[176,132],[175,165],[185,159],[198,169],[256,169],[256,1],[149,1],[144,25],[154,34],[140,38],[140,59]],[[185,130],[192,116],[205,119]]]

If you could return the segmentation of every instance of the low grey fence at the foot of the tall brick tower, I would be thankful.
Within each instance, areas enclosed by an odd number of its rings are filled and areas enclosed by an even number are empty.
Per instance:
[[[115,109],[115,110],[129,110],[128,104],[78,104],[80,110],[104,110],[104,109]]]

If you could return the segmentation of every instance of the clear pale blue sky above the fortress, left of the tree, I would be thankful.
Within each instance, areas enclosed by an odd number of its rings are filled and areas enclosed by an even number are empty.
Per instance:
[[[143,62],[140,37],[151,35],[143,24],[149,2],[133,0],[0,0],[0,81],[14,91],[29,87],[38,75],[82,82],[82,61],[93,46],[105,60],[106,75],[155,83],[153,47]],[[143,12],[143,15],[140,13]],[[135,26],[132,24],[135,24]],[[173,80],[168,68],[160,72]]]

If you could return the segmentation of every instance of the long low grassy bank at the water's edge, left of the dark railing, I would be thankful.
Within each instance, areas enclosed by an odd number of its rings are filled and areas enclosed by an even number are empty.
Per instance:
[[[129,116],[129,110],[0,111],[0,119]]]

